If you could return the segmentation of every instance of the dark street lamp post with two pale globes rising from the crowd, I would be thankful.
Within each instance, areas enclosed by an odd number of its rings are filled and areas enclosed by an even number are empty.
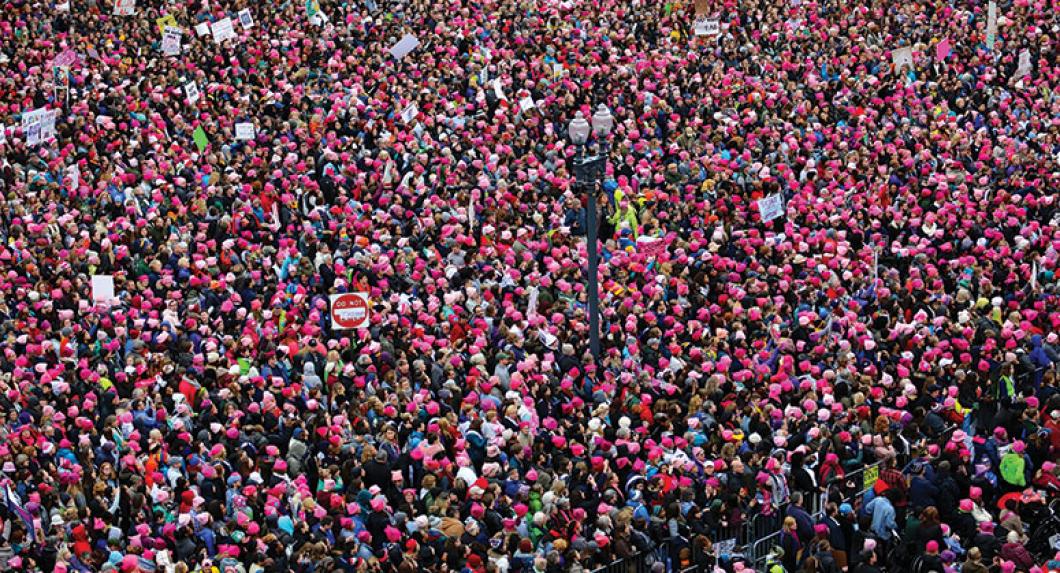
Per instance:
[[[570,141],[577,146],[578,155],[575,156],[575,184],[585,190],[585,250],[588,252],[588,291],[589,291],[589,351],[593,353],[593,360],[600,362],[600,287],[597,284],[597,276],[600,268],[600,259],[597,253],[597,187],[603,181],[607,167],[608,142],[607,137],[615,126],[615,120],[611,115],[607,106],[600,104],[596,113],[593,114],[593,125],[585,121],[585,115],[578,111],[575,119],[570,121],[567,132]],[[589,129],[596,135],[599,143],[599,154],[594,156],[585,155],[585,144],[589,139]]]

